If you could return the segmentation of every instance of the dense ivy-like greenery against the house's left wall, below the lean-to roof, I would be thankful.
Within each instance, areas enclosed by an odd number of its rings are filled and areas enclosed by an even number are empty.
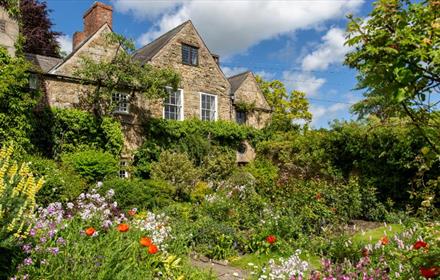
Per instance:
[[[119,155],[123,147],[121,124],[110,118],[96,118],[78,109],[48,109],[35,113],[33,142],[55,158],[85,148],[103,149]]]

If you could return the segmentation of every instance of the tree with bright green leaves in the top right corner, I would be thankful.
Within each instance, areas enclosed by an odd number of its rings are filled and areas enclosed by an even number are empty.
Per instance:
[[[349,17],[345,64],[358,71],[364,100],[353,110],[383,121],[406,116],[432,149],[440,118],[440,2],[379,0],[369,17]]]

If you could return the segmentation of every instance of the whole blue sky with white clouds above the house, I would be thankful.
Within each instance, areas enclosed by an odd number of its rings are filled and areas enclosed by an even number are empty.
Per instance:
[[[75,31],[92,0],[47,0],[54,30],[69,52]],[[354,118],[350,104],[356,72],[342,65],[346,14],[365,17],[371,0],[106,0],[113,9],[113,30],[138,47],[191,19],[212,52],[220,54],[227,76],[245,70],[282,80],[306,92],[312,126]]]

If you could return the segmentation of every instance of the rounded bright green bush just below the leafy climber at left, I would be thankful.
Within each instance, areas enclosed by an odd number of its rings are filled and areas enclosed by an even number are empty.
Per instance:
[[[99,150],[89,149],[63,154],[61,160],[90,183],[116,176],[119,170],[119,162],[116,158],[108,152]]]

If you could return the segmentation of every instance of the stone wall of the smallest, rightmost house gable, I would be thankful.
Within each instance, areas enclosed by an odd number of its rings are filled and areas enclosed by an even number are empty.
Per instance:
[[[241,86],[235,91],[234,102],[253,103],[255,105],[255,110],[246,114],[247,125],[260,129],[265,127],[270,121],[270,107],[261,93],[255,77],[251,73],[248,74]]]

